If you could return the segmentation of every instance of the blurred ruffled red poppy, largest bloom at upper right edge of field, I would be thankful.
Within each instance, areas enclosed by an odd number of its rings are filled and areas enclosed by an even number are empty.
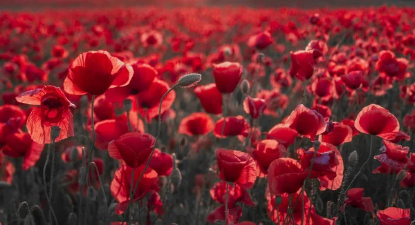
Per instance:
[[[405,77],[407,65],[409,62],[407,59],[396,59],[394,52],[382,50],[379,53],[379,60],[376,62],[376,70],[381,74],[385,74],[389,77]]]

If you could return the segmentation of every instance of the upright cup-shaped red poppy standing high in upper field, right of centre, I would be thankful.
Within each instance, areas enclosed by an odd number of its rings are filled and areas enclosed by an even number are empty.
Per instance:
[[[290,75],[301,81],[310,79],[314,73],[314,50],[298,50],[290,52],[291,68]]]

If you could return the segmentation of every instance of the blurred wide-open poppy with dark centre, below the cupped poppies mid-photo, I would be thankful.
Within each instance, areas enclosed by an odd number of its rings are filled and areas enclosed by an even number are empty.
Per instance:
[[[206,135],[214,128],[213,120],[206,113],[192,113],[183,118],[178,126],[178,133],[188,136]]]

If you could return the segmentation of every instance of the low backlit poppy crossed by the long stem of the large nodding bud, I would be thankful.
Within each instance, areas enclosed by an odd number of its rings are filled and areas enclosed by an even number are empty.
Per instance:
[[[129,203],[130,198],[130,191],[131,191],[131,173],[134,171],[133,177],[133,184],[138,182],[138,179],[142,172],[144,171],[145,165],[141,165],[137,168],[131,168],[127,165],[122,165],[115,173],[114,178],[111,182],[111,195],[113,195],[114,199],[119,202],[118,206],[116,206],[116,214],[120,215],[127,210],[127,206]],[[138,184],[138,188],[136,190],[136,194],[133,196],[133,202],[137,201],[138,199],[142,199],[145,195],[149,192],[149,190],[156,190],[158,191],[158,176],[156,171],[152,170],[151,168],[147,168],[145,170],[140,183]]]

